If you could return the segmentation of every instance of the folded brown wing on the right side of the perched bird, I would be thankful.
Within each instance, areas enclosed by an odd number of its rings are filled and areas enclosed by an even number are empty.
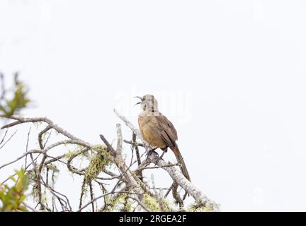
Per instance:
[[[161,138],[171,150],[174,150],[178,138],[174,125],[162,114],[157,116],[156,119],[159,124],[159,131],[161,131]]]

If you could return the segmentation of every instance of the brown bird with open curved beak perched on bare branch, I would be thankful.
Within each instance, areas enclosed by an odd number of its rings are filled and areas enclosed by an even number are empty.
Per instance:
[[[179,147],[176,144],[178,136],[174,125],[159,112],[157,100],[153,95],[148,94],[138,98],[140,98],[141,102],[136,105],[141,104],[142,107],[142,112],[138,117],[142,138],[152,148],[161,148],[164,153],[167,148],[170,148],[174,152],[176,160],[181,164],[181,172],[188,181],[191,181]]]

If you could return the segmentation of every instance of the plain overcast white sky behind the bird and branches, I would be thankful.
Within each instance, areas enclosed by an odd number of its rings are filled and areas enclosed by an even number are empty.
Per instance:
[[[23,114],[91,143],[115,138],[114,107],[137,124],[132,97],[154,94],[193,183],[222,210],[305,211],[305,11],[302,0],[1,0],[0,71],[28,83]],[[0,165],[25,151],[27,131]],[[59,183],[77,203],[75,180]]]

